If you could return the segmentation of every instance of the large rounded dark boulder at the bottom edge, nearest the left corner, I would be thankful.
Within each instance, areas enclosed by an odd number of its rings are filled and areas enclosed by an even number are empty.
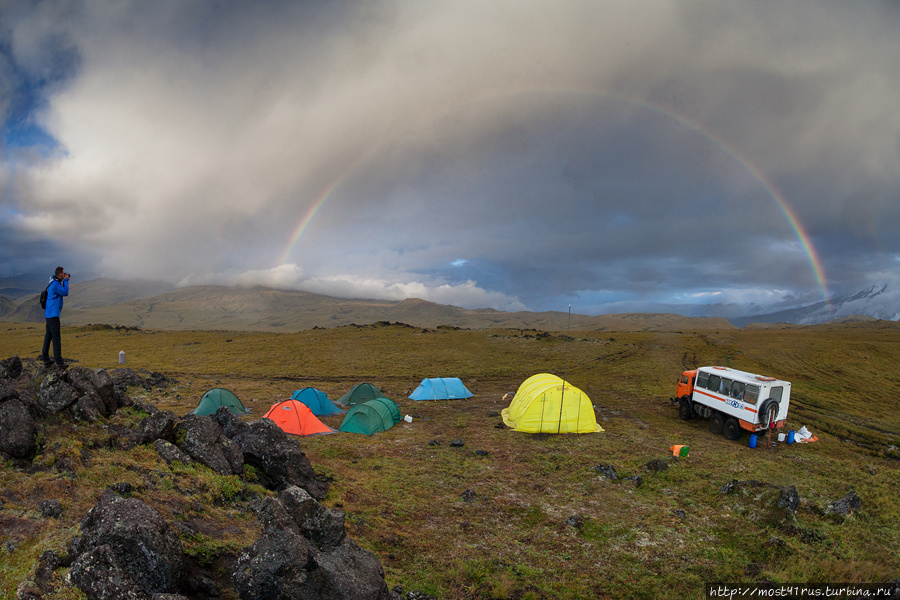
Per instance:
[[[175,532],[140,500],[105,491],[72,544],[70,577],[89,600],[176,593],[184,556]]]

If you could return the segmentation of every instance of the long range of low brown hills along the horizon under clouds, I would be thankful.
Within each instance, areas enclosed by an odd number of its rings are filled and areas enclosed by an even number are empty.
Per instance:
[[[333,298],[268,288],[195,286],[159,293],[161,284],[132,285],[106,279],[71,284],[63,321],[69,325],[106,323],[153,329],[291,332],[315,327],[364,325],[379,321],[416,327],[517,328],[565,331],[678,331],[732,329],[720,318],[671,314],[587,316],[565,312],[503,312],[465,309],[410,298],[402,301]],[[41,322],[35,298],[0,319]]]

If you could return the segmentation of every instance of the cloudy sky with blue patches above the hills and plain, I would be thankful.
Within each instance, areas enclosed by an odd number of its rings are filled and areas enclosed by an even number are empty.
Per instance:
[[[0,276],[582,314],[894,290],[897,31],[877,0],[0,0]]]

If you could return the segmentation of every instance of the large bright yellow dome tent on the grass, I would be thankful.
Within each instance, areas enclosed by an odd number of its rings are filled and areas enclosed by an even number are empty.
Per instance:
[[[509,427],[525,433],[603,431],[587,394],[549,373],[523,381],[509,407],[500,414]]]

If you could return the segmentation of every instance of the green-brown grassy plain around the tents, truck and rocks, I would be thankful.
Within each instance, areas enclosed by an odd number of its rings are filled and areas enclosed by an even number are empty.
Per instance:
[[[35,325],[0,323],[0,358],[34,357]],[[703,598],[712,582],[866,583],[900,577],[900,328],[877,322],[702,332],[421,329],[376,324],[298,333],[64,328],[67,357],[177,380],[134,389],[135,399],[177,414],[204,391],[227,387],[259,418],[295,389],[336,399],[355,383],[380,386],[412,423],[371,437],[298,439],[322,477],[323,503],[347,514],[348,534],[381,560],[388,585],[441,599]],[[681,421],[669,402],[688,366],[719,364],[792,382],[788,426],[819,441],[747,445]],[[528,376],[550,372],[584,390],[603,433],[529,435],[494,416]],[[413,402],[423,377],[458,376],[471,400]],[[225,589],[228,563],[258,535],[247,508],[259,486],[200,467],[170,467],[152,447],[109,448],[109,423],[46,422],[31,472],[0,469],[0,597],[33,576],[40,552],[62,551],[100,490],[133,495],[178,527],[186,552]],[[341,417],[325,417],[334,428]],[[461,439],[462,447],[450,442]],[[674,444],[690,456],[668,458]],[[483,450],[487,454],[476,454]],[[593,467],[611,464],[610,481]],[[61,466],[65,466],[63,469]],[[790,522],[758,518],[753,499],[720,493],[732,479],[796,486]],[[830,505],[850,489],[861,508]],[[59,498],[59,519],[37,503]],[[748,504],[749,503],[749,504]],[[4,516],[5,515],[5,516]],[[60,581],[65,569],[54,577]],[[52,596],[52,595],[51,595]],[[57,598],[77,598],[61,588]]]

